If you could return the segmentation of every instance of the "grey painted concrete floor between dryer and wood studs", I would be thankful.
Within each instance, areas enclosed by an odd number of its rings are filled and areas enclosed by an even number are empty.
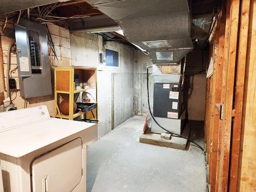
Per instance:
[[[88,146],[87,192],[206,190],[204,155],[139,142],[144,116],[134,116]],[[199,133],[199,134],[198,134]],[[203,145],[203,134],[190,137]]]

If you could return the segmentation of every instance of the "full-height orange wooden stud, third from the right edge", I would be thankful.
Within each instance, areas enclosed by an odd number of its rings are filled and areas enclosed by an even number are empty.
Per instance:
[[[229,1],[228,1],[229,2]],[[228,3],[229,4],[229,3]],[[224,120],[222,122],[222,146],[221,146],[221,161],[220,161],[220,176],[219,191],[228,190],[228,176],[229,176],[229,155],[230,155],[230,137],[231,137],[231,117],[233,104],[233,90],[234,90],[234,74],[236,67],[237,54],[237,38],[238,38],[238,23],[239,23],[239,0],[230,2],[230,23],[227,44],[227,55],[225,61],[227,62],[226,86],[224,91]]]

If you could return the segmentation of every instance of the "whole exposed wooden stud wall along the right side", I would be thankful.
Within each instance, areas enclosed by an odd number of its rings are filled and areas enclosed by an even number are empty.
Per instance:
[[[206,79],[205,105],[210,191],[256,191],[255,2],[223,2],[210,36],[214,70]]]

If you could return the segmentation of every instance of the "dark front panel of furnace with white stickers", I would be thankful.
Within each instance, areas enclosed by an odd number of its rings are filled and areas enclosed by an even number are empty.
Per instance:
[[[181,113],[179,83],[154,83],[154,117],[178,119]]]

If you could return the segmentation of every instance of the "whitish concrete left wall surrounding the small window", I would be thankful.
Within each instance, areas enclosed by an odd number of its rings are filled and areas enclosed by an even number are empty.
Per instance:
[[[119,52],[119,69],[107,68],[99,61],[104,47]],[[111,131],[133,116],[134,50],[118,42],[106,42],[96,34],[71,34],[74,66],[97,67],[98,136]]]

